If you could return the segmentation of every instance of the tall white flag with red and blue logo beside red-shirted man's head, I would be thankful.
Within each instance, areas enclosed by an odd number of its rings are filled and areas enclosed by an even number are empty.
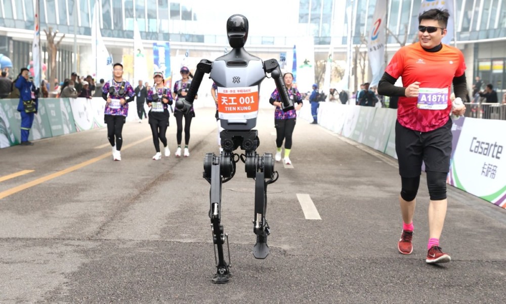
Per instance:
[[[387,0],[377,0],[367,42],[367,53],[372,71],[371,87],[377,86],[385,72],[386,17]]]

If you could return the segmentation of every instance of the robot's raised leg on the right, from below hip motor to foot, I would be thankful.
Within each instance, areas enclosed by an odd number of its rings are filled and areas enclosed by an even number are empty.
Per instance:
[[[265,218],[267,209],[267,188],[264,177],[264,172],[257,172],[255,177],[255,219],[253,221],[253,231],[257,234],[257,244],[253,246],[253,255],[256,258],[266,258],[269,254],[267,236],[270,232],[267,219]]]

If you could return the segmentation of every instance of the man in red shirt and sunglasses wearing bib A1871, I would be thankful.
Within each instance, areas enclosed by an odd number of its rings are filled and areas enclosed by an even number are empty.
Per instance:
[[[464,105],[452,108],[450,89],[466,100],[466,64],[460,50],[443,45],[447,33],[448,11],[431,9],[418,17],[418,40],[402,47],[385,69],[378,94],[399,96],[395,125],[395,149],[401,176],[400,205],[403,230],[399,252],[410,254],[413,214],[420,183],[421,163],[425,162],[429,188],[429,242],[427,263],[451,260],[439,247],[446,216],[446,176],[450,167],[450,112],[461,116]],[[395,87],[402,77],[403,87]]]

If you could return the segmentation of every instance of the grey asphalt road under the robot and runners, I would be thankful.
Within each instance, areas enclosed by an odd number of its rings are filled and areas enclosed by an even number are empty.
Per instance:
[[[272,112],[259,115],[260,155],[275,152]],[[427,265],[423,175],[414,251],[401,255],[396,161],[304,120],[293,166],[276,163],[279,179],[268,186],[266,259],[252,255],[254,180],[238,163],[223,185],[232,276],[213,284],[202,165],[218,153],[217,128],[213,108],[196,115],[189,158],[174,157],[174,117],[172,155],[159,161],[146,120],[124,126],[121,162],[105,129],[0,149],[0,180],[21,172],[0,182],[0,302],[506,302],[506,210],[449,187],[441,246],[452,261]],[[306,218],[298,194],[321,219]]]

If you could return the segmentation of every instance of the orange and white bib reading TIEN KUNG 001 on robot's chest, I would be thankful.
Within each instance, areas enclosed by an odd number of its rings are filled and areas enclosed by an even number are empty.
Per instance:
[[[254,119],[258,116],[258,86],[218,87],[218,117],[224,120]]]

